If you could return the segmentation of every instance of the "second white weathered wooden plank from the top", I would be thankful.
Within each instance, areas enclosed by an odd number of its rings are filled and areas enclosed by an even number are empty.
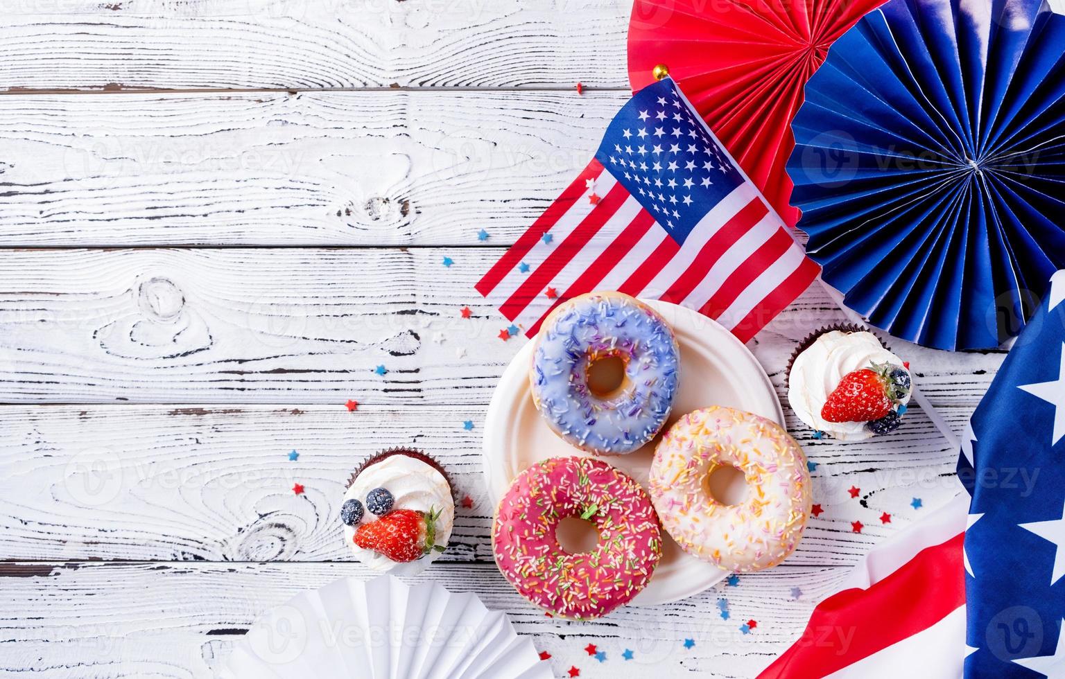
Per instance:
[[[587,165],[625,98],[0,97],[0,243],[507,245]]]

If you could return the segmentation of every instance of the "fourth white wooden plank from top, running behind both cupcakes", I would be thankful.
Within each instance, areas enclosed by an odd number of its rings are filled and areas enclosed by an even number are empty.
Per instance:
[[[955,429],[968,414],[944,409]],[[824,513],[788,563],[853,564],[953,494],[957,453],[919,411],[906,419],[890,440],[847,445],[815,441],[789,418],[818,464],[814,501]],[[0,559],[347,561],[339,516],[350,473],[380,449],[415,446],[474,502],[458,507],[443,559],[491,563],[482,425],[481,405],[3,407]],[[912,497],[924,508],[911,508]]]

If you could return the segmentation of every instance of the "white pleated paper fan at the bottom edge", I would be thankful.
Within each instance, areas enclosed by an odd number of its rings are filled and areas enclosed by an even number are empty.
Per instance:
[[[222,679],[551,679],[532,642],[477,595],[346,578],[266,612]]]

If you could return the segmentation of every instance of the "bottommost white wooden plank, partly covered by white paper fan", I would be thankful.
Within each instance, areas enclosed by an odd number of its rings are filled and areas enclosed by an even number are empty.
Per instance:
[[[744,576],[737,586],[684,601],[626,608],[592,623],[547,618],[526,603],[494,564],[433,566],[426,578],[453,592],[474,591],[491,609],[509,611],[518,630],[551,652],[561,676],[588,643],[607,652],[602,666],[577,660],[581,677],[751,677],[783,651],[805,626],[814,603],[847,575],[846,568],[781,566]],[[33,676],[210,677],[239,635],[272,607],[301,590],[342,577],[366,578],[347,564],[0,564],[3,616],[0,674],[33,667]],[[411,581],[414,582],[414,581]],[[802,595],[796,600],[792,586]],[[719,615],[726,596],[731,618]],[[161,614],[162,613],[162,614]],[[739,626],[755,619],[743,634]],[[685,637],[697,641],[685,649]],[[634,660],[621,661],[625,648]],[[562,664],[564,663],[564,664]]]

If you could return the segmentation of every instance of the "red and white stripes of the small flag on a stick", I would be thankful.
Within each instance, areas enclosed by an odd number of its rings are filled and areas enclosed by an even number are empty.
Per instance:
[[[551,243],[543,242],[545,233]],[[528,271],[520,270],[522,263]],[[561,301],[603,289],[698,310],[747,342],[818,271],[750,181],[710,210],[681,246],[593,160],[477,291],[530,336]],[[557,297],[548,297],[548,288]]]

